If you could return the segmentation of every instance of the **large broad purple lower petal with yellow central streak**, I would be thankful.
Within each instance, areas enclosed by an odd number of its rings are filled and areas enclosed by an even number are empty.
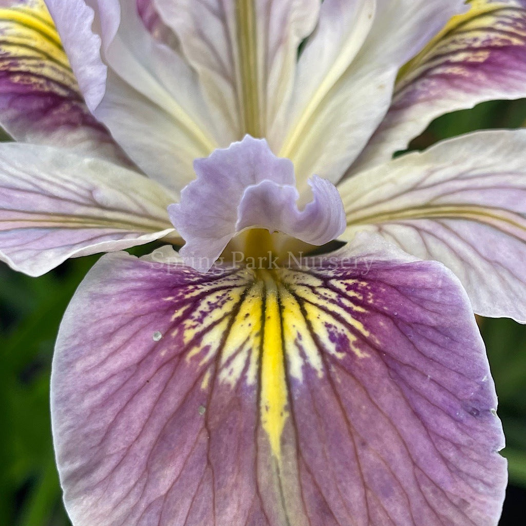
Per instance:
[[[176,261],[104,256],[62,322],[53,432],[75,526],[496,526],[497,399],[449,271]]]

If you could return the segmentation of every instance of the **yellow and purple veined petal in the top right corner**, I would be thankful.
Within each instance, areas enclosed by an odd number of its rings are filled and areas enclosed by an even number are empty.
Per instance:
[[[389,112],[350,174],[389,160],[444,113],[526,97],[526,4],[470,5],[402,68]]]

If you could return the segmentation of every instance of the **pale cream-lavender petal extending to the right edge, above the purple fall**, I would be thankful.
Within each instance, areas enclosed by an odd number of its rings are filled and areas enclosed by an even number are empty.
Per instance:
[[[339,190],[348,239],[377,230],[451,268],[478,314],[526,322],[526,130],[445,141],[367,170]]]

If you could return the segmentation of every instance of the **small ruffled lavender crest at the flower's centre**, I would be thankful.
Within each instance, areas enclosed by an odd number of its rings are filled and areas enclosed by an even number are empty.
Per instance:
[[[207,271],[230,239],[245,228],[281,231],[309,244],[323,245],[345,230],[338,190],[312,178],[313,200],[299,210],[294,167],[276,157],[265,139],[247,135],[228,149],[195,162],[197,179],[168,214],[186,244],[188,265]]]

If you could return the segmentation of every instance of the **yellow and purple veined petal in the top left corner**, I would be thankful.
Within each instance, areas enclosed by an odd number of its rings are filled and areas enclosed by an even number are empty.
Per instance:
[[[0,125],[19,141],[128,163],[89,113],[44,2],[0,2],[0,33]]]

